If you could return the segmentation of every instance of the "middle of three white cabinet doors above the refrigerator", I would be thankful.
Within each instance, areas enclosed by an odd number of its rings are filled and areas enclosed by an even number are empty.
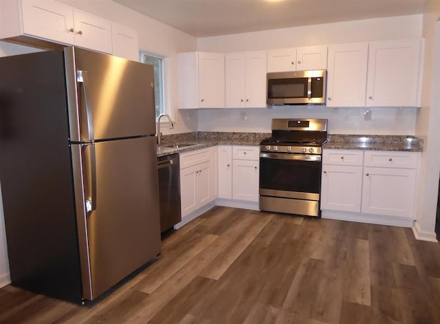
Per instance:
[[[75,45],[111,54],[110,21],[87,14],[74,12]]]

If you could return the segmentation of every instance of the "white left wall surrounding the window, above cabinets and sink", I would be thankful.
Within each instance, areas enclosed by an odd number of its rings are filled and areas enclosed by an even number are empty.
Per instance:
[[[183,133],[197,130],[197,111],[190,111],[181,116],[176,108],[176,54],[197,50],[197,39],[194,36],[110,0],[58,0],[58,2],[137,30],[140,50],[165,58],[165,109],[175,121],[175,129],[170,131],[167,127],[162,127],[163,133]]]

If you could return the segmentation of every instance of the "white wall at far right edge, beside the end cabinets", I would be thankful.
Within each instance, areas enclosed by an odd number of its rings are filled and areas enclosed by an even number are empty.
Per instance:
[[[440,2],[431,0],[423,14],[425,65],[421,109],[417,114],[416,135],[423,138],[421,180],[418,188],[415,234],[434,239],[437,193],[440,173]]]

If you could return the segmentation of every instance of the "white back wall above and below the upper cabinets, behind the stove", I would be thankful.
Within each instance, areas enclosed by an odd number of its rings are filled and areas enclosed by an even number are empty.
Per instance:
[[[420,38],[421,14],[326,23],[263,32],[249,32],[198,39],[198,50],[243,52],[283,47],[329,45],[388,39]],[[283,109],[199,110],[201,131],[270,131],[272,118],[328,118],[331,133],[414,135],[417,108],[370,109],[371,120],[364,120],[364,108],[284,107]],[[242,114],[246,114],[243,118]]]

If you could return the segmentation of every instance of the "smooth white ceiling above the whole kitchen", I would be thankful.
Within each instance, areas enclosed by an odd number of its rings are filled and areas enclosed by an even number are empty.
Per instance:
[[[428,0],[113,0],[196,37],[420,14]]]

